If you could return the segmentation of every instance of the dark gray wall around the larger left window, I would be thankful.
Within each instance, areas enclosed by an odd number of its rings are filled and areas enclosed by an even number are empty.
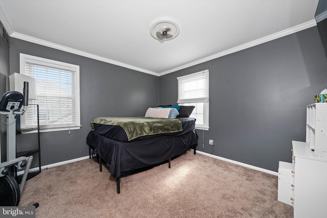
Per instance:
[[[86,136],[97,116],[144,116],[147,108],[158,104],[156,76],[124,67],[51,49],[15,38],[10,39],[10,74],[19,72],[19,53],[80,66],[80,130],[43,132],[42,165],[88,155]],[[37,134],[17,135],[17,151],[35,148]],[[36,158],[36,157],[35,157]],[[35,162],[34,161],[34,165]]]

